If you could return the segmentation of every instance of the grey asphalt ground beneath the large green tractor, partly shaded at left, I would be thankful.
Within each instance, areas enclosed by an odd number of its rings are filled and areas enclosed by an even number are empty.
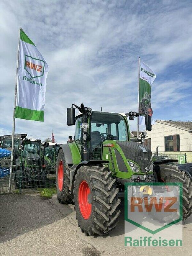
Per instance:
[[[59,204],[56,195],[0,195],[0,255],[192,255],[192,216],[183,222],[182,247],[125,247],[124,205],[120,221],[106,236],[85,236],[72,204]]]

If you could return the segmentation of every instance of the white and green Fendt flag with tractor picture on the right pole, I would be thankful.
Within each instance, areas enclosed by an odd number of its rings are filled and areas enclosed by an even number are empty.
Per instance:
[[[146,112],[139,116],[139,125],[145,125],[145,115],[152,116],[151,108],[151,85],[156,75],[151,68],[144,62],[140,62],[140,78],[139,78],[139,112]]]

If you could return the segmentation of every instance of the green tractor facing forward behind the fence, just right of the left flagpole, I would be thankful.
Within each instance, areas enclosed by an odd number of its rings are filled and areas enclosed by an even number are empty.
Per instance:
[[[15,188],[26,186],[44,187],[47,170],[44,164],[44,152],[48,143],[41,148],[41,140],[25,138],[21,141],[19,157],[16,160]]]

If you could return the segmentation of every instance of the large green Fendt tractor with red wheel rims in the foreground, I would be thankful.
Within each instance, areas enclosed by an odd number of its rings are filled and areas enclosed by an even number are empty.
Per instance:
[[[75,108],[80,111],[75,117]],[[130,140],[127,114],[92,111],[72,104],[67,125],[75,125],[74,141],[59,148],[56,166],[57,198],[74,202],[78,226],[86,236],[103,235],[115,228],[125,182],[182,182],[183,219],[192,209],[192,184],[175,166],[153,164],[151,150]],[[146,130],[151,116],[146,115]]]

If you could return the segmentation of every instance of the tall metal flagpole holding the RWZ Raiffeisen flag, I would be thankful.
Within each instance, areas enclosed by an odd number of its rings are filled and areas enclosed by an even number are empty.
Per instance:
[[[13,170],[13,149],[14,149],[14,137],[15,137],[15,109],[16,109],[16,99],[17,99],[17,76],[18,76],[18,66],[19,66],[20,32],[21,32],[21,28],[19,28],[19,41],[18,41],[18,51],[17,51],[17,68],[16,68],[16,78],[15,78],[15,101],[14,101],[14,109],[13,109],[13,130],[12,130],[12,146],[11,146],[11,166],[10,166],[8,193],[10,193],[10,191],[11,191],[11,176],[12,176],[12,170]]]

